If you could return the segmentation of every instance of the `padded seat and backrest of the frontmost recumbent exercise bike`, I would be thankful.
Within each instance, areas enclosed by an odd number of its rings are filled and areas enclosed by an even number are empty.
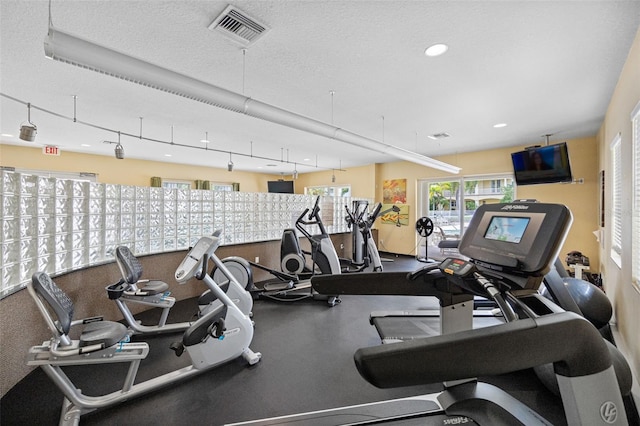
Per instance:
[[[32,278],[32,288],[51,307],[57,317],[58,331],[64,335],[69,334],[73,324],[74,306],[69,296],[57,286],[46,272],[36,272]],[[80,347],[100,345],[101,347],[113,346],[125,339],[128,335],[124,324],[103,321],[102,317],[84,319],[82,332],[79,339]]]

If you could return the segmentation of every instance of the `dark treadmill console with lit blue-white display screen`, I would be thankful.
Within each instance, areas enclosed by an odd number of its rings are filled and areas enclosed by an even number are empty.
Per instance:
[[[571,222],[571,212],[561,204],[484,204],[471,218],[459,251],[479,266],[542,276],[555,261]]]

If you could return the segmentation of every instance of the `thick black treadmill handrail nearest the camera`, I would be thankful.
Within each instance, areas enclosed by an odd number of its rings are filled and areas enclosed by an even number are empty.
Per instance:
[[[598,330],[573,312],[361,348],[354,359],[360,375],[379,388],[507,374],[548,363],[567,377],[611,366]]]

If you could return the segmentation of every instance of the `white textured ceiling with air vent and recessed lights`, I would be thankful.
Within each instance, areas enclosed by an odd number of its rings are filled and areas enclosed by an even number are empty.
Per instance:
[[[228,4],[271,28],[244,56],[207,28]],[[53,0],[51,19],[80,38],[433,157],[544,143],[545,134],[551,142],[594,135],[640,25],[640,1]],[[209,148],[247,155],[233,156],[236,170],[290,174],[397,160],[51,61],[48,21],[48,1],[0,0],[4,95],[67,117],[76,96],[80,121],[132,135],[142,122],[145,138],[170,142],[173,133],[175,143],[198,148],[208,132]],[[449,45],[445,55],[424,55],[440,42]],[[5,96],[0,106],[2,143],[113,157],[102,141],[116,134],[38,109],[36,141],[21,141],[26,106]],[[451,137],[427,137],[440,132]],[[126,158],[220,168],[229,161],[228,153],[121,140]]]

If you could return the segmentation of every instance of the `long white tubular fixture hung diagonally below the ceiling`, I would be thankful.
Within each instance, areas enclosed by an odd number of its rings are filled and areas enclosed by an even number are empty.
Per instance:
[[[51,26],[44,41],[44,51],[45,56],[50,59],[152,87],[187,99],[335,139],[359,148],[384,153],[391,157],[448,173],[460,172],[459,167],[260,102],[239,93],[94,44],[56,30]]]

